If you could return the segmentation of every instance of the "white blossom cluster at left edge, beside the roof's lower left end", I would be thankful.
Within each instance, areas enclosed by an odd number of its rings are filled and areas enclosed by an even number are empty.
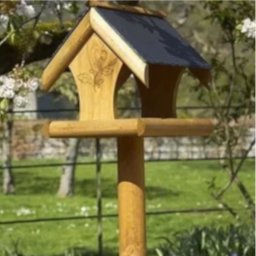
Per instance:
[[[35,91],[39,86],[37,78],[30,78],[27,81],[14,79],[11,75],[0,77],[0,102],[3,99],[13,100],[18,107],[25,107],[27,104],[26,96],[29,92]]]

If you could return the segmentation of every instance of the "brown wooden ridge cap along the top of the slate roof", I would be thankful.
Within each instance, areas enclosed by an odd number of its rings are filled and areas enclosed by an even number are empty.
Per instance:
[[[164,11],[149,10],[149,9],[138,7],[138,6],[115,5],[115,4],[110,4],[105,1],[99,1],[99,0],[88,0],[86,5],[89,7],[101,7],[101,8],[107,8],[112,10],[118,10],[118,11],[144,14],[149,16],[158,16],[162,18],[167,16],[167,14]]]

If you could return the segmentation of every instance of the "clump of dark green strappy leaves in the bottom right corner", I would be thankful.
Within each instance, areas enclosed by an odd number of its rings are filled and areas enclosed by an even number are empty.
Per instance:
[[[250,226],[196,227],[176,233],[172,240],[161,237],[158,256],[254,256],[255,230]]]

